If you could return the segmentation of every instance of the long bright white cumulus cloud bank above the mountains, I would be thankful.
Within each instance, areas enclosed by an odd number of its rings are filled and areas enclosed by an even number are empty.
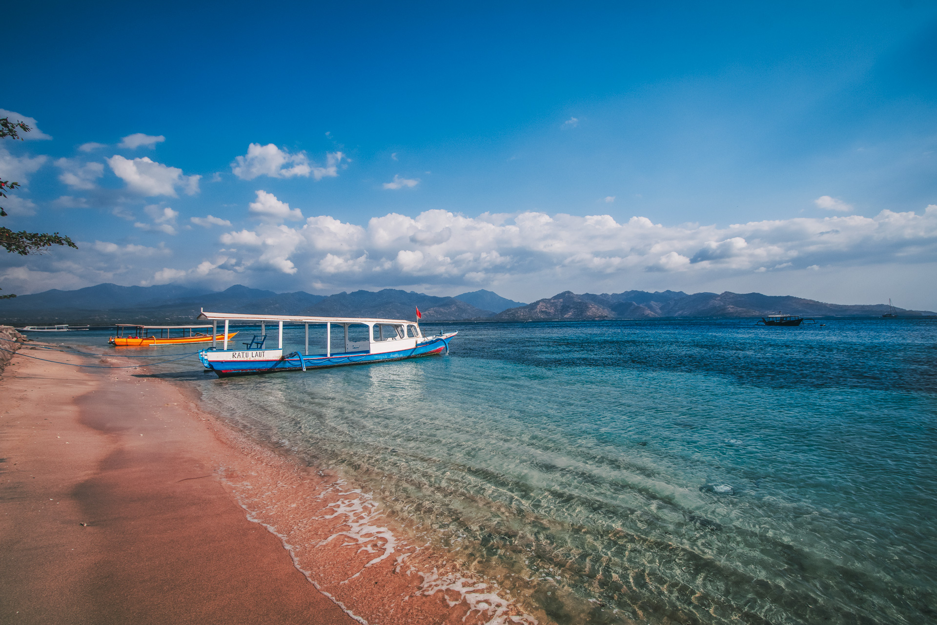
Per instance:
[[[295,210],[266,196],[267,205],[277,206],[276,216]],[[726,227],[665,226],[643,216],[617,222],[608,215],[468,217],[431,210],[416,217],[391,213],[366,224],[334,216],[312,216],[296,227],[267,222],[225,232],[219,240],[231,248],[222,250],[227,260],[205,270],[208,275],[319,275],[343,289],[558,280],[613,280],[623,289],[647,272],[703,281],[837,263],[937,261],[937,205],[921,214],[885,210],[874,217],[798,217]]]

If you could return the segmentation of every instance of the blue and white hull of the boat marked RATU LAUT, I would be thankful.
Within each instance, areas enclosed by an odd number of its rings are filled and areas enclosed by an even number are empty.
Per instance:
[[[304,355],[300,358],[295,355],[281,356],[270,360],[219,360],[216,351],[212,351],[212,360],[205,355],[209,350],[199,352],[199,358],[206,369],[214,371],[219,378],[229,376],[244,376],[260,373],[276,373],[278,371],[304,371],[307,369],[323,369],[331,366],[371,365],[374,363],[387,363],[395,360],[431,356],[449,350],[449,341],[457,333],[434,336],[423,343],[417,343],[415,348],[408,350],[387,351],[384,353],[369,353],[367,351],[350,351],[332,354]],[[238,352],[244,354],[244,351]]]

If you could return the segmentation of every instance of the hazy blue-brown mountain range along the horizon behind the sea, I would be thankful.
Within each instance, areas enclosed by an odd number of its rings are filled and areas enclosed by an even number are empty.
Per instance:
[[[762,293],[693,293],[627,290],[620,293],[564,291],[532,304],[515,302],[490,290],[454,297],[384,289],[316,295],[302,290],[275,293],[242,285],[209,291],[158,285],[121,287],[99,284],[78,290],[47,290],[0,300],[0,321],[13,325],[71,323],[189,323],[200,309],[215,312],[312,317],[378,317],[423,320],[612,320],[659,317],[762,317],[783,311],[809,317],[880,317],[887,305],[825,304],[793,296]],[[932,315],[898,308],[900,316]]]

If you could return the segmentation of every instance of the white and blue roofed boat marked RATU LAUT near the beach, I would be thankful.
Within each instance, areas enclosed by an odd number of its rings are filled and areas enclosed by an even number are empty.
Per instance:
[[[449,341],[457,332],[427,336],[417,322],[394,319],[364,319],[357,317],[301,317],[291,315],[244,315],[201,311],[199,320],[213,324],[213,335],[218,335],[218,322],[224,322],[223,340],[213,340],[212,347],[199,352],[199,360],[206,369],[218,377],[238,376],[277,371],[306,371],[327,366],[368,365],[404,360],[419,356],[449,352]],[[233,347],[227,339],[231,323],[256,324],[260,322],[260,335],[242,343],[243,349]],[[276,324],[276,348],[268,347],[267,324]],[[305,351],[283,353],[283,325],[305,326]],[[309,326],[325,326],[325,353],[309,353]],[[333,326],[340,337],[333,339]],[[338,334],[338,333],[335,333]],[[245,335],[249,335],[246,333]],[[272,340],[270,341],[273,342]]]

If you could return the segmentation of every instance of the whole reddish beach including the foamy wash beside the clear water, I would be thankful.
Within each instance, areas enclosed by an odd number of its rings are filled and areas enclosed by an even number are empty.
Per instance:
[[[145,368],[17,355],[0,394],[4,622],[538,622]]]

